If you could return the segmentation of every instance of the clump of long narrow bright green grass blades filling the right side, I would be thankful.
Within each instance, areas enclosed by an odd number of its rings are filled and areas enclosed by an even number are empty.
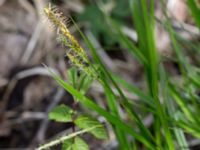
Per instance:
[[[193,0],[187,2],[196,25],[200,27],[199,8]],[[98,6],[100,10],[103,10],[100,4]],[[108,22],[108,27],[112,27],[113,31],[108,32],[114,32],[115,40],[144,68],[147,91],[141,90],[110,72],[98,56],[97,50],[91,42],[91,37],[85,36],[73,19],[72,22],[92,55],[94,63],[90,67],[96,71],[98,76],[96,80],[104,89],[105,103],[108,109],[98,106],[95,100],[91,100],[84,93],[74,88],[75,85],[72,86],[69,81],[65,82],[53,72],[50,72],[58,84],[73,95],[75,99],[78,99],[81,105],[103,116],[110,123],[119,143],[119,149],[132,150],[144,147],[151,150],[188,150],[190,148],[187,136],[200,138],[200,119],[198,117],[200,115],[198,109],[200,97],[196,94],[200,88],[199,66],[191,64],[186,59],[184,39],[177,35],[173,29],[163,4],[165,19],[162,26],[168,31],[172,50],[175,54],[174,61],[178,64],[178,69],[181,72],[179,80],[174,81],[173,76],[167,73],[164,60],[159,56],[156,49],[154,1],[151,0],[147,5],[145,0],[129,0],[129,6],[133,28],[138,36],[137,45],[122,32],[120,23],[104,12],[102,12],[102,15]],[[199,45],[187,42],[189,43],[188,47],[198,55]],[[73,80],[78,79],[76,77]],[[111,86],[116,89],[118,95],[115,94]],[[122,89],[137,95],[139,101],[131,102]],[[123,120],[120,115],[120,107],[129,121]],[[153,115],[151,127],[147,127],[143,123],[144,117],[148,114]],[[130,136],[131,138],[129,138]]]

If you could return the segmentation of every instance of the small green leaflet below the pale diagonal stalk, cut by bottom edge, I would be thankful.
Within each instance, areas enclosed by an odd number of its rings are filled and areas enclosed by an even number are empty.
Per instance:
[[[82,138],[75,137],[73,150],[89,150],[89,146]]]

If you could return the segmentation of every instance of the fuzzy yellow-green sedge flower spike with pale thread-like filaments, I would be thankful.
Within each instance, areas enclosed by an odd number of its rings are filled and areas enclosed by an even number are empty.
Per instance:
[[[59,41],[68,48],[66,55],[72,64],[96,78],[91,63],[76,38],[70,33],[66,26],[66,17],[56,7],[47,6],[44,13],[52,25],[59,31]]]

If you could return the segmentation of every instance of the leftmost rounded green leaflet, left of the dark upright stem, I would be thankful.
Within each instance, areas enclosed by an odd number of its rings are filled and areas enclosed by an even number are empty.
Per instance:
[[[49,119],[55,120],[58,122],[71,122],[73,114],[74,114],[74,111],[70,107],[62,104],[60,106],[56,106],[49,113]]]

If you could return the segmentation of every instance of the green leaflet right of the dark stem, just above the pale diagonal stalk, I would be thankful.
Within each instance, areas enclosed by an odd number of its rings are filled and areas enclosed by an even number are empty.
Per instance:
[[[93,130],[89,131],[89,133],[93,134],[98,139],[106,139],[107,133],[104,126],[96,119],[81,115],[75,120],[75,124],[81,129],[87,129],[91,127],[95,127]]]

